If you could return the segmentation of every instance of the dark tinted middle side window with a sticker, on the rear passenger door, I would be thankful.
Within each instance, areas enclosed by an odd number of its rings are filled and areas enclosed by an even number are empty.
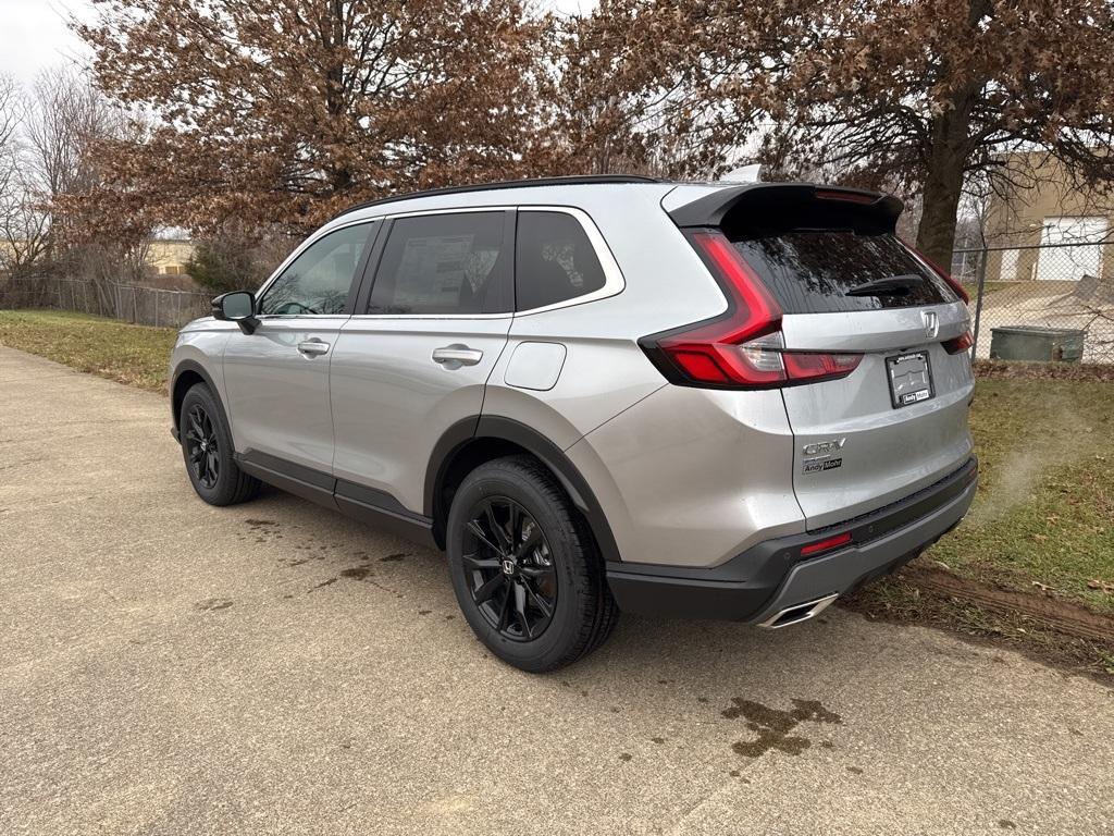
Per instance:
[[[400,217],[375,271],[369,313],[508,313],[506,213]]]

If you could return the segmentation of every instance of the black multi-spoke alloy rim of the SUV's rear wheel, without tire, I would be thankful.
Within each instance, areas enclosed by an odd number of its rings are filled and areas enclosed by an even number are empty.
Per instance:
[[[472,601],[511,641],[532,641],[557,607],[557,570],[537,521],[505,496],[486,497],[469,512],[462,554]]]

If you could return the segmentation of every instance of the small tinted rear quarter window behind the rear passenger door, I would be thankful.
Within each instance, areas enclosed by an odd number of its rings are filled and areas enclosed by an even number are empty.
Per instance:
[[[604,269],[580,222],[564,212],[519,212],[515,307],[530,311],[604,286]]]

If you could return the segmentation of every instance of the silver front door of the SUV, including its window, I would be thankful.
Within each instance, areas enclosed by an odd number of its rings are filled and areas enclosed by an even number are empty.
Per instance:
[[[235,331],[228,340],[224,378],[233,440],[248,460],[331,473],[329,366],[373,229],[344,226],[303,247],[260,295],[255,332]]]

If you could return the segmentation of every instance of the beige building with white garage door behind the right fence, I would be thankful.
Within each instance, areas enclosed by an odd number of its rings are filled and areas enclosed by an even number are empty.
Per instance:
[[[1016,154],[1035,185],[994,195],[987,214],[987,281],[1114,279],[1114,191],[1077,187],[1045,155]]]

